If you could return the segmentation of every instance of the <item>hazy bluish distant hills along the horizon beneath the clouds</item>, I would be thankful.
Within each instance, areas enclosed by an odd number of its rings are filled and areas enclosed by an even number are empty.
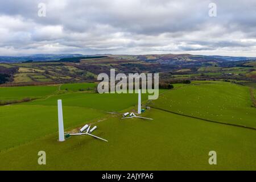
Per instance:
[[[76,58],[77,57],[77,58]],[[253,60],[255,57],[234,57],[234,56],[203,56],[203,55],[190,55],[190,54],[163,54],[163,55],[81,55],[81,54],[36,54],[30,56],[0,56],[0,63],[21,63],[31,61],[71,61],[76,62],[79,59],[98,58],[98,57],[113,57],[117,59],[125,60],[140,60],[146,62],[155,62],[160,64],[172,64],[183,62],[207,62],[214,61],[217,63],[225,61],[241,61],[241,60]],[[85,58],[84,58],[85,57]]]

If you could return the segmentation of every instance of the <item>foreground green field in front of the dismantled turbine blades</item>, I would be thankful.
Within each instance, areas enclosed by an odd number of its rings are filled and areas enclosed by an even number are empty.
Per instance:
[[[154,121],[121,120],[97,123],[94,134],[57,142],[57,133],[1,152],[0,169],[77,170],[255,170],[253,130],[218,125],[152,109],[144,114]],[[38,151],[47,165],[38,165]],[[217,152],[217,165],[208,164],[209,151]]]

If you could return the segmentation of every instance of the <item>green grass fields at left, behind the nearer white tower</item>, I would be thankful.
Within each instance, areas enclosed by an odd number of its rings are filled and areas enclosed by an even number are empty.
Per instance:
[[[95,84],[64,84],[61,88],[95,86]],[[0,106],[0,150],[14,147],[54,133],[57,130],[57,100],[63,100],[65,128],[95,122],[105,116],[104,111],[120,111],[137,104],[138,94],[97,94],[88,92],[56,92],[59,86],[19,86],[2,89],[3,98],[49,97]],[[62,93],[62,94],[61,94]],[[142,94],[142,100],[147,94]],[[94,120],[93,120],[94,119]],[[96,120],[95,120],[96,119]]]

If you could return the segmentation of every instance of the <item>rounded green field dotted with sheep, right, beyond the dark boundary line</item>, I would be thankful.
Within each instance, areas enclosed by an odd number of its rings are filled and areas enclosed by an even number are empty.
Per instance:
[[[256,109],[246,86],[196,82],[171,90],[150,105],[175,113],[256,128]]]

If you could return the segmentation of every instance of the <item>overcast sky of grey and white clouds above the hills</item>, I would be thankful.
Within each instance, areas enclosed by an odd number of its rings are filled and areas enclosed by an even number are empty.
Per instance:
[[[1,0],[0,55],[34,53],[256,57],[256,1]]]

